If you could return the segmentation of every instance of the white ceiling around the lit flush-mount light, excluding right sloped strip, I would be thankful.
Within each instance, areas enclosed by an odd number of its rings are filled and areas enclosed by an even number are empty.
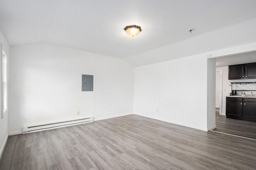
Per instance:
[[[255,7],[256,0],[0,0],[0,30],[11,46],[127,58],[256,18]],[[130,38],[123,28],[134,24],[142,32]]]

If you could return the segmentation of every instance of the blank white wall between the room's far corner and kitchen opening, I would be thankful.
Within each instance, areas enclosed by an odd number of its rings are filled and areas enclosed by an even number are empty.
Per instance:
[[[134,113],[207,130],[206,55],[136,67]]]

